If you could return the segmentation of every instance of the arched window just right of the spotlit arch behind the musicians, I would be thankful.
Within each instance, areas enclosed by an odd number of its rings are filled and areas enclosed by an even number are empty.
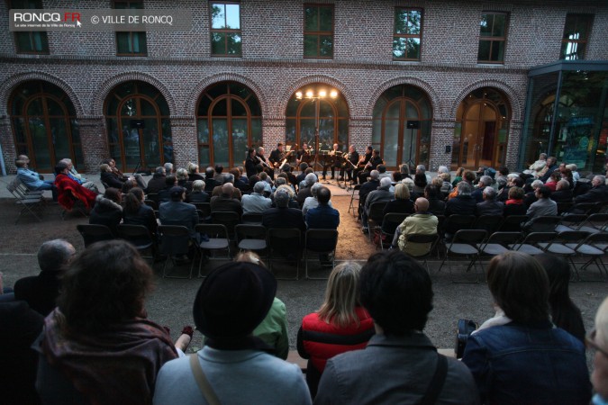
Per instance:
[[[386,166],[429,165],[432,109],[429,97],[414,85],[395,85],[374,106],[372,147]]]

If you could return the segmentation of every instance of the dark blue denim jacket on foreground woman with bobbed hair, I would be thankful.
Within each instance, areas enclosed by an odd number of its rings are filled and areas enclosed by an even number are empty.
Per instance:
[[[549,320],[480,330],[468,338],[462,361],[485,403],[575,405],[591,400],[585,347]]]

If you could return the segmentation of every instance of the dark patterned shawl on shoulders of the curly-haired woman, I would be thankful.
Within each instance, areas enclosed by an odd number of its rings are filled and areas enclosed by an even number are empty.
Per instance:
[[[93,404],[151,403],[160,367],[177,358],[165,329],[136,318],[103,332],[68,332],[56,308],[44,320],[41,350]]]

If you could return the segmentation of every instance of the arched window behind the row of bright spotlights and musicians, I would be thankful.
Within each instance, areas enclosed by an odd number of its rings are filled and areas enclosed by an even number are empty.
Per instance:
[[[304,142],[315,150],[330,150],[334,143],[339,150],[348,150],[349,106],[340,92],[328,85],[307,85],[298,90],[304,94],[302,100],[292,95],[286,109],[286,146],[300,148]],[[323,93],[324,92],[324,93]],[[297,92],[296,92],[297,93]],[[305,94],[313,94],[314,99]],[[325,94],[319,97],[320,94]],[[318,120],[318,121],[317,121]],[[319,128],[319,145],[315,146],[315,129]]]

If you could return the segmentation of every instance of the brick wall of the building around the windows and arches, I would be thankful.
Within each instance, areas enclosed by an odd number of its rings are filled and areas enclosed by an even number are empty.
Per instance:
[[[193,29],[187,32],[148,32],[148,56],[115,56],[113,33],[49,32],[50,55],[16,55],[12,32],[0,31],[0,117],[8,115],[10,94],[25,80],[42,79],[59,85],[75,104],[84,122],[81,129],[86,170],[96,171],[107,155],[104,100],[113,86],[128,80],[154,85],[167,99],[175,160],[178,166],[197,160],[195,107],[208,85],[234,80],[259,98],[264,145],[275,148],[285,140],[286,105],[303,85],[322,83],[344,95],[349,105],[349,143],[358,151],[371,140],[371,116],[378,97],[393,85],[416,85],[428,95],[432,110],[431,170],[449,165],[458,104],[476,88],[500,90],[511,106],[507,163],[517,165],[525,94],[530,67],[557,60],[566,14],[594,14],[588,59],[608,59],[608,5],[580,7],[572,0],[487,1],[323,0],[335,4],[334,58],[304,59],[302,30],[304,1],[243,0],[242,58],[213,58],[209,44],[207,2],[146,0],[146,8],[189,9]],[[319,1],[313,2],[319,3]],[[45,8],[106,8],[107,1],[45,0]],[[395,6],[420,7],[422,60],[392,60]],[[509,14],[504,65],[477,65],[480,15]],[[0,2],[0,24],[8,24],[6,3]],[[81,124],[82,125],[82,124]],[[5,161],[14,170],[10,122],[0,118],[0,142]],[[200,162],[206,166],[207,162]],[[80,168],[79,168],[80,169]]]

